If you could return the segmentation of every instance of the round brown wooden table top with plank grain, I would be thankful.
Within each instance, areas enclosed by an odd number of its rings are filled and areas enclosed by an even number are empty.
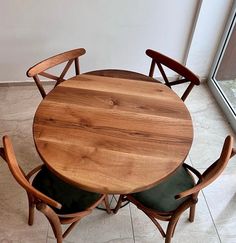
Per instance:
[[[65,181],[127,194],[173,173],[193,128],[183,101],[163,84],[83,74],[40,103],[33,135],[44,163]]]

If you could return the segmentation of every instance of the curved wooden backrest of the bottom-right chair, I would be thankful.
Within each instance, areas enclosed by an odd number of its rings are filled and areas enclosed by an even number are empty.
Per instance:
[[[201,189],[212,183],[224,170],[230,158],[236,154],[236,150],[233,148],[233,137],[227,136],[220,154],[217,159],[210,167],[208,167],[201,176],[199,182],[192,189],[176,195],[176,199],[183,198],[194,193],[198,193]]]

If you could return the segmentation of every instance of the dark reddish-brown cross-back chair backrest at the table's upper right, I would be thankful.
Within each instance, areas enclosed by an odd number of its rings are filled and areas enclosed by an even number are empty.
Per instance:
[[[190,82],[190,84],[188,85],[181,97],[183,101],[187,98],[194,85],[200,84],[199,78],[192,71],[190,71],[188,68],[178,63],[177,61],[171,59],[170,57],[167,57],[159,52],[150,49],[146,50],[146,54],[152,58],[151,67],[149,71],[150,77],[153,77],[155,66],[157,65],[162,75],[162,78],[164,79],[165,84],[168,87],[171,88],[171,86],[173,85]],[[171,69],[172,71],[176,72],[181,78],[175,81],[170,81],[166,76],[163,65]]]

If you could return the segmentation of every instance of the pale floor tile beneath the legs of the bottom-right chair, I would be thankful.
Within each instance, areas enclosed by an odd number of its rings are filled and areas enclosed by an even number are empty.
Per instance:
[[[132,222],[134,228],[135,242],[154,243],[164,242],[159,231],[147,216],[135,206],[131,207]],[[180,218],[173,243],[197,243],[197,242],[220,242],[214,224],[212,222],[205,199],[200,193],[196,208],[196,217],[193,223],[188,221],[188,210]],[[161,225],[166,229],[166,222]]]

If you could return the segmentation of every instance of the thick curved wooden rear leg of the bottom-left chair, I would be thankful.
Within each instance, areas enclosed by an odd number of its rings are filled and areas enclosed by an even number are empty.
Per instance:
[[[49,220],[49,223],[52,227],[54,236],[57,239],[57,243],[62,243],[63,237],[62,237],[61,222],[60,222],[57,214],[49,206],[47,206],[44,203],[37,203],[36,208],[40,212],[42,212]]]

